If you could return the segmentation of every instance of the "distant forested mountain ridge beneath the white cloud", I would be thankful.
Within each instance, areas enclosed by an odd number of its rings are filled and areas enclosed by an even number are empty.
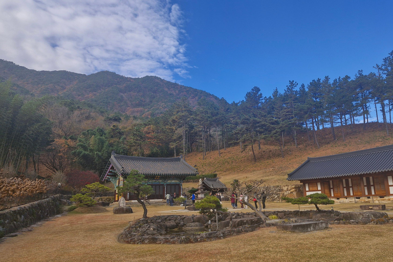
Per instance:
[[[187,97],[195,106],[201,98],[218,101],[205,91],[156,76],[131,78],[102,71],[83,75],[68,71],[36,71],[0,59],[0,81],[10,80],[21,94],[60,95],[134,116],[157,116],[173,102]]]

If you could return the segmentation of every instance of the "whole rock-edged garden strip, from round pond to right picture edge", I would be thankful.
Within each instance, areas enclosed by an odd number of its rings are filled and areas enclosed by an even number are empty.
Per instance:
[[[329,224],[384,224],[393,223],[385,212],[339,212],[334,210],[274,211],[264,212],[279,219],[265,222],[255,212],[218,215],[217,230],[215,217],[206,215],[161,215],[130,222],[119,235],[119,242],[126,244],[187,244],[214,241],[232,235],[254,231],[259,227],[277,226],[285,223],[326,221]]]

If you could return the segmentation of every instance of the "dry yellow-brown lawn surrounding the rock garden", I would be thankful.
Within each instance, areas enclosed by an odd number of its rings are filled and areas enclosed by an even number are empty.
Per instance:
[[[224,202],[224,206],[229,208],[230,203]],[[359,209],[358,204],[333,206],[340,211]],[[393,261],[389,244],[393,241],[392,224],[331,225],[309,233],[268,227],[198,244],[120,244],[119,233],[142,215],[139,205],[132,207],[133,214],[121,215],[112,213],[113,206],[100,213],[78,208],[33,231],[6,238],[0,244],[0,261]],[[387,205],[390,216],[392,208],[393,204]],[[305,209],[314,206],[301,206]],[[268,202],[267,210],[297,210],[297,205]],[[184,212],[179,206],[148,206],[148,216],[196,213]]]

